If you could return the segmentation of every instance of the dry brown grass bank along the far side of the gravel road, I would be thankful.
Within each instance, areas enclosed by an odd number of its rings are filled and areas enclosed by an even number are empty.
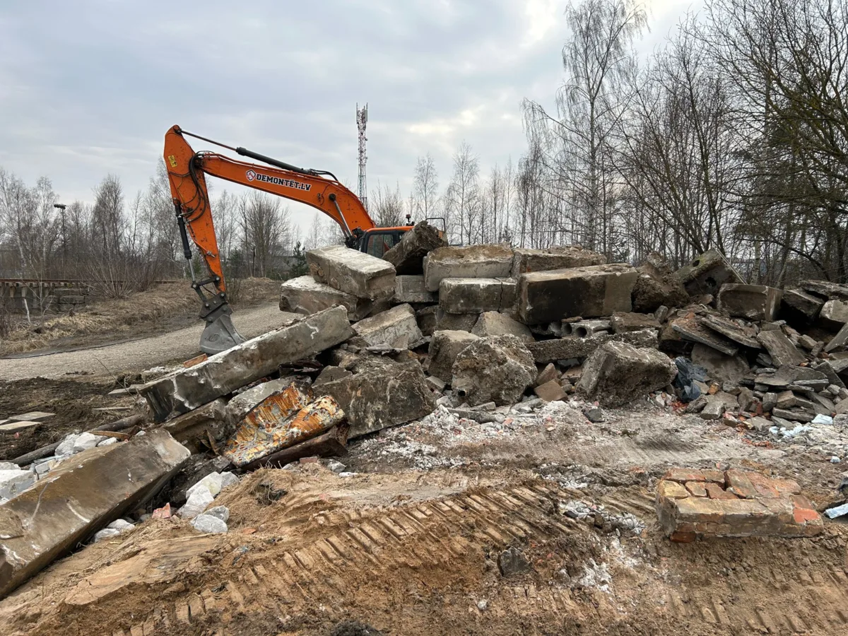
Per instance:
[[[269,278],[246,278],[233,282],[234,307],[276,302],[280,283]],[[19,321],[0,338],[0,355],[21,354],[56,346],[74,338],[90,343],[130,338],[143,333],[166,331],[170,321],[185,320],[198,313],[198,297],[188,284],[158,285],[127,298],[102,300],[73,315],[45,315],[27,325]]]

